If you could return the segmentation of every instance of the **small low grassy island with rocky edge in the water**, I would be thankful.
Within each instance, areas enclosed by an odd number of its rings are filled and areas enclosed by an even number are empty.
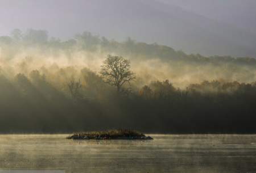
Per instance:
[[[72,140],[153,140],[150,136],[136,130],[118,129],[98,132],[81,132],[68,136]]]

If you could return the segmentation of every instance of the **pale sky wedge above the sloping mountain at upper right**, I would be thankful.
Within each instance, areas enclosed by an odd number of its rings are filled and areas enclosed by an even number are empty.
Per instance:
[[[159,0],[256,35],[255,0]]]

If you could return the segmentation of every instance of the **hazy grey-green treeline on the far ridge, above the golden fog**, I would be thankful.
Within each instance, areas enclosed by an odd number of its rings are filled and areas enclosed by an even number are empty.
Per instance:
[[[166,45],[157,43],[147,44],[137,42],[130,37],[126,41],[118,42],[106,39],[98,35],[92,35],[90,32],[82,32],[67,41],[61,41],[55,37],[49,37],[48,32],[44,30],[28,29],[22,32],[14,29],[11,36],[0,36],[0,47],[5,55],[11,58],[24,47],[37,47],[43,51],[56,52],[56,50],[64,50],[71,53],[74,50],[100,51],[104,53],[115,53],[130,56],[130,58],[159,58],[163,61],[179,60],[188,63],[200,64],[223,64],[232,63],[238,65],[255,66],[255,58],[250,57],[230,57],[230,56],[212,56],[205,57],[200,54],[186,54],[182,50],[174,50]],[[6,51],[5,51],[6,50]],[[13,53],[10,53],[13,51]],[[45,52],[44,52],[45,53]]]

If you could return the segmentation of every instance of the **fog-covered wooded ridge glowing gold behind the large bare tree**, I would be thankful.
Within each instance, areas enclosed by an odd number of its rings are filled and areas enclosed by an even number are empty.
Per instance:
[[[166,79],[179,88],[205,80],[256,81],[256,61],[249,57],[189,55],[163,45],[139,43],[130,38],[118,42],[90,32],[82,32],[67,41],[35,29],[24,32],[15,29],[11,35],[0,37],[1,73],[10,78],[18,73],[28,76],[32,70],[39,70],[51,80],[59,78],[58,70],[69,67],[73,69],[69,77],[78,79],[85,67],[97,74],[106,56],[114,54],[131,61],[137,75],[134,85],[139,87]]]

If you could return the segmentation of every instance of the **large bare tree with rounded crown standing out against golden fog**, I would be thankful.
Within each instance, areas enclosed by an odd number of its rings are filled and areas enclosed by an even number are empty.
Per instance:
[[[118,92],[126,91],[121,90],[122,86],[125,83],[129,83],[130,85],[130,81],[134,81],[135,79],[133,71],[130,70],[130,61],[121,56],[112,56],[109,54],[103,63],[100,74],[104,82],[116,87]]]

